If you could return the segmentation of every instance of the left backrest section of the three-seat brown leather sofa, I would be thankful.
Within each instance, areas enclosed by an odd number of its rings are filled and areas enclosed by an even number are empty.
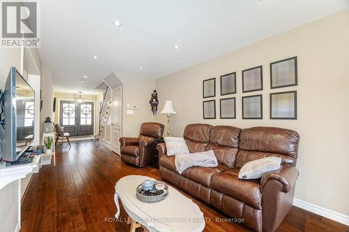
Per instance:
[[[200,123],[186,126],[183,137],[186,140],[186,145],[190,153],[205,151],[207,144],[209,144],[211,129],[211,125]]]

